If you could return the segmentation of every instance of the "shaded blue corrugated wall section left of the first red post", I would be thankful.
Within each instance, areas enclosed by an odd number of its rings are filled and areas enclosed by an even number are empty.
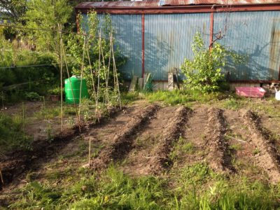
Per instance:
[[[98,15],[102,24],[104,15]],[[115,33],[115,47],[127,58],[127,62],[119,69],[125,79],[132,76],[141,77],[141,15],[111,15]]]

